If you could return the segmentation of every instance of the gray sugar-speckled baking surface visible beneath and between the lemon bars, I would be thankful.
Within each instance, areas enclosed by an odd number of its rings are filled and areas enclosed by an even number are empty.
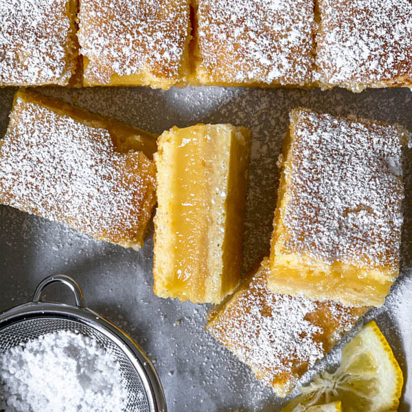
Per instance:
[[[16,89],[0,89],[0,133]],[[398,122],[412,130],[412,91],[351,93],[296,89],[188,87],[44,88],[41,93],[161,133],[198,122],[231,123],[253,132],[244,237],[244,273],[268,255],[279,172],[276,167],[288,126],[288,111],[306,106],[337,115]],[[412,150],[411,150],[412,151]],[[410,151],[410,152],[411,152]],[[385,306],[367,314],[387,336],[404,371],[399,411],[412,404],[412,155],[406,153],[402,273]],[[159,372],[170,412],[279,411],[285,400],[260,384],[204,330],[209,305],[159,299],[152,293],[152,225],[141,251],[91,240],[64,225],[0,206],[0,311],[30,300],[47,275],[65,273],[82,286],[90,308],[124,328],[144,348]],[[61,287],[49,299],[71,299]],[[349,339],[349,337],[347,337]],[[339,361],[338,345],[314,370]],[[310,379],[314,371],[305,376]],[[290,394],[294,396],[296,391]],[[286,399],[287,400],[287,399]]]

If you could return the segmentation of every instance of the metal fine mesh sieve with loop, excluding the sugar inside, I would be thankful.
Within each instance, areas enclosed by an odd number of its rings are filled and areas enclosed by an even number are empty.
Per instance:
[[[43,289],[54,282],[62,282],[71,288],[76,306],[41,301]],[[39,284],[32,302],[0,315],[0,353],[60,330],[89,336],[113,354],[129,393],[124,412],[166,412],[161,382],[146,354],[113,323],[84,307],[82,290],[71,277],[47,277]]]

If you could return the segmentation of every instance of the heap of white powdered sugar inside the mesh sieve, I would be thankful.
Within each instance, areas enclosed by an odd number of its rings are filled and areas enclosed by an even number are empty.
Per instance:
[[[0,354],[5,412],[113,412],[127,399],[113,355],[82,334],[49,333]]]

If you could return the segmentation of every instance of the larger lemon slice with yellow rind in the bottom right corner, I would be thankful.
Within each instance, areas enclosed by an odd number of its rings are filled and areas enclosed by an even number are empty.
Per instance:
[[[282,412],[323,411],[312,407],[336,401],[341,401],[343,412],[396,411],[402,385],[402,371],[391,347],[378,325],[370,321],[345,345],[341,366],[334,374],[315,376]]]

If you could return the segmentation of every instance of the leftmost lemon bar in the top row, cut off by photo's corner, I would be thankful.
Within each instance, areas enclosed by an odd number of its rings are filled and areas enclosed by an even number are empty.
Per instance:
[[[69,84],[77,8],[77,0],[0,1],[0,86]]]

